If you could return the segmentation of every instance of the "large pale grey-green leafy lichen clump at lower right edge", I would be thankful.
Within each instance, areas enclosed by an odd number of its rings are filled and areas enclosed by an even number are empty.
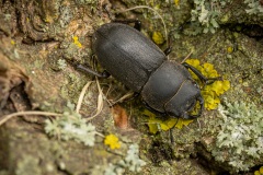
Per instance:
[[[243,102],[226,103],[218,110],[220,131],[211,153],[237,171],[248,171],[263,156],[263,110]]]

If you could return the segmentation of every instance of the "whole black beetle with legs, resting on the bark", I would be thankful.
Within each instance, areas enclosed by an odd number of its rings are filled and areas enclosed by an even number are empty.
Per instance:
[[[204,100],[197,83],[187,70],[194,71],[201,80],[207,81],[195,68],[187,63],[167,60],[164,52],[136,28],[123,23],[102,25],[92,36],[92,49],[101,66],[115,79],[136,93],[151,109],[173,117],[192,119],[201,116]],[[98,73],[85,69],[98,77]],[[199,102],[196,115],[192,109]]]

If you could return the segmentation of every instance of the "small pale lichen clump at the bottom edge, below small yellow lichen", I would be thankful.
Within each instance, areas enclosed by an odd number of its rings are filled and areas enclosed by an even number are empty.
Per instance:
[[[146,162],[139,159],[139,145],[130,144],[126,156],[117,164],[110,164],[105,170],[104,175],[124,174],[125,170],[138,173],[144,165],[146,165]]]

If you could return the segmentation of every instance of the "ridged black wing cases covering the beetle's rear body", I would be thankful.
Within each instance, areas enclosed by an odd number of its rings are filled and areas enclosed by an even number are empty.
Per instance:
[[[102,67],[135,92],[140,92],[165,55],[137,30],[119,23],[102,25],[92,47]]]

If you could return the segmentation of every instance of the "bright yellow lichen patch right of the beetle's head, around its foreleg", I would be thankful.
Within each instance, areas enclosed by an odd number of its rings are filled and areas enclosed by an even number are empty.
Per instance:
[[[220,74],[217,73],[217,71],[215,70],[215,68],[211,63],[205,62],[204,65],[201,65],[199,60],[197,60],[197,59],[188,59],[185,62],[195,67],[206,78],[220,77]],[[192,71],[190,71],[190,72],[191,72],[191,75],[193,77],[193,79],[196,80],[196,82],[201,86],[203,86],[198,77],[194,72],[192,72]],[[219,96],[222,95],[229,89],[230,89],[230,82],[228,80],[222,80],[222,81],[218,80],[211,84],[207,84],[207,85],[203,86],[201,93],[205,101],[205,108],[208,110],[216,109],[220,103]]]

